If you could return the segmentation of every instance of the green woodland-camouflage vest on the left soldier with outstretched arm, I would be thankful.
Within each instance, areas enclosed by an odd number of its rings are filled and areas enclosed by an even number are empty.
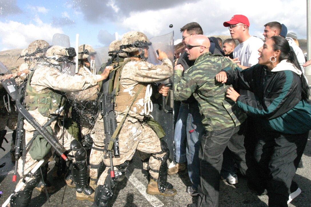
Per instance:
[[[34,71],[30,73],[26,91],[25,91],[25,104],[28,111],[33,111],[38,108],[39,113],[46,117],[53,117],[55,115],[63,116],[63,107],[66,103],[66,97],[63,92],[57,90],[46,89],[42,93],[30,86],[31,78]],[[61,110],[61,113],[59,111]]]

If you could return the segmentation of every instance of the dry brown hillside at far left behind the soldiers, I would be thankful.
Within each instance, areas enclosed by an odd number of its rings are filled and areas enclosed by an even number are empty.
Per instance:
[[[16,68],[24,62],[23,59],[19,58],[22,50],[23,49],[12,49],[12,50],[0,51],[0,61],[9,70],[11,70],[12,72],[15,72]]]

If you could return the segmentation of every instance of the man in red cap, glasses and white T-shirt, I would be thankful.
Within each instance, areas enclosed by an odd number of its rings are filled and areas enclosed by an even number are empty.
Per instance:
[[[258,49],[262,47],[263,41],[248,33],[249,21],[244,15],[234,15],[230,21],[225,21],[224,26],[228,27],[232,39],[239,41],[234,48],[233,57],[238,58],[242,69],[251,67],[258,63]]]

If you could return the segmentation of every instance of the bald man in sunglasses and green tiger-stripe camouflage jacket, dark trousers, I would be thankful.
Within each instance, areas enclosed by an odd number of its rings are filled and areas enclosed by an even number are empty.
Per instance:
[[[192,45],[195,47],[191,48]],[[191,37],[187,47],[189,60],[195,60],[195,63],[184,71],[183,76],[183,68],[180,65],[175,67],[174,97],[181,101],[194,95],[206,130],[199,151],[199,198],[197,205],[193,206],[218,206],[222,154],[226,146],[233,152],[241,173],[245,175],[247,169],[242,124],[246,115],[234,101],[225,97],[229,86],[215,81],[220,70],[238,66],[227,58],[212,56],[209,52],[210,42],[204,35]]]

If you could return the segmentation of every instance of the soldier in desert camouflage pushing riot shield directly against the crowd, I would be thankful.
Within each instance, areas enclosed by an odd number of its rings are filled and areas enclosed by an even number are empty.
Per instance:
[[[151,43],[145,34],[141,32],[128,32],[122,40],[123,51],[129,53],[130,58],[124,59],[121,74],[117,75],[114,87],[118,82],[119,91],[115,97],[115,112],[118,125],[128,112],[127,117],[118,135],[120,156],[113,158],[115,166],[115,178],[110,178],[109,157],[104,156],[104,164],[108,167],[100,175],[95,190],[95,202],[93,206],[108,206],[115,184],[125,177],[128,161],[132,159],[135,151],[145,162],[144,169],[149,170],[150,182],[146,192],[151,195],[173,196],[176,190],[166,182],[168,147],[164,140],[160,140],[156,132],[144,122],[144,97],[146,86],[150,82],[159,82],[173,75],[172,62],[167,55],[159,50],[161,65],[153,65],[145,59],[148,58],[148,46]],[[132,45],[132,46],[131,46]],[[118,77],[120,77],[118,79]],[[139,88],[142,89],[139,92]],[[139,93],[138,93],[139,92]],[[134,96],[138,93],[137,99]],[[130,105],[133,103],[132,107]],[[130,110],[128,111],[128,109]],[[96,127],[96,124],[95,124]],[[97,134],[95,134],[97,136]]]

